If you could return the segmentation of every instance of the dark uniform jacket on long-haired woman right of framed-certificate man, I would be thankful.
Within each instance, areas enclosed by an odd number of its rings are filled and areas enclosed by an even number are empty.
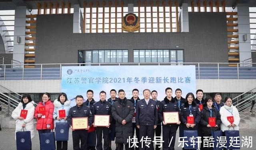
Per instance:
[[[188,101],[184,103],[184,107],[181,108],[180,110],[180,120],[181,123],[183,124],[183,128],[186,130],[197,130],[198,129],[198,123],[200,122],[201,115],[199,111],[199,107],[196,105],[196,103],[193,101],[191,104],[191,115],[194,117],[194,124],[196,125],[194,128],[187,128],[186,123],[187,123],[187,117],[190,115],[190,109],[189,109],[189,104]]]

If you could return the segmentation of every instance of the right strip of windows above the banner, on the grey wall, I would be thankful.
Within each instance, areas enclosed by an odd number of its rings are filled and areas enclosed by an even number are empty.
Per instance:
[[[183,50],[134,49],[133,62],[184,62]]]

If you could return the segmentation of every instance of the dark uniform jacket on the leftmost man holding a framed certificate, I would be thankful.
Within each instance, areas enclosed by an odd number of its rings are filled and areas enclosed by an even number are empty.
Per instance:
[[[77,117],[88,117],[88,125],[92,125],[93,117],[92,113],[90,112],[90,108],[86,107],[85,105],[81,105],[81,107],[78,107],[75,105],[74,107],[70,108],[68,112],[68,125],[72,125],[72,118]]]

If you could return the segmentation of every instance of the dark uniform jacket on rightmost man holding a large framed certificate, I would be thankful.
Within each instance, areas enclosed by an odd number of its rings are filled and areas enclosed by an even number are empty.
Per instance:
[[[172,100],[169,101],[167,97],[164,98],[163,101],[160,103],[160,109],[158,111],[158,119],[163,122],[164,121],[164,115],[163,112],[175,112],[175,111],[180,111],[178,107],[178,102],[175,101],[172,97]],[[162,126],[173,126],[174,124],[167,124],[167,125],[162,125]],[[177,124],[175,124],[177,125]]]

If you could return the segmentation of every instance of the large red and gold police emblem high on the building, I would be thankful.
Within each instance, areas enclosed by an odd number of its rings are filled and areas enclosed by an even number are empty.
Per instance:
[[[126,14],[122,18],[122,29],[127,32],[138,31],[140,29],[140,19],[135,14]]]

